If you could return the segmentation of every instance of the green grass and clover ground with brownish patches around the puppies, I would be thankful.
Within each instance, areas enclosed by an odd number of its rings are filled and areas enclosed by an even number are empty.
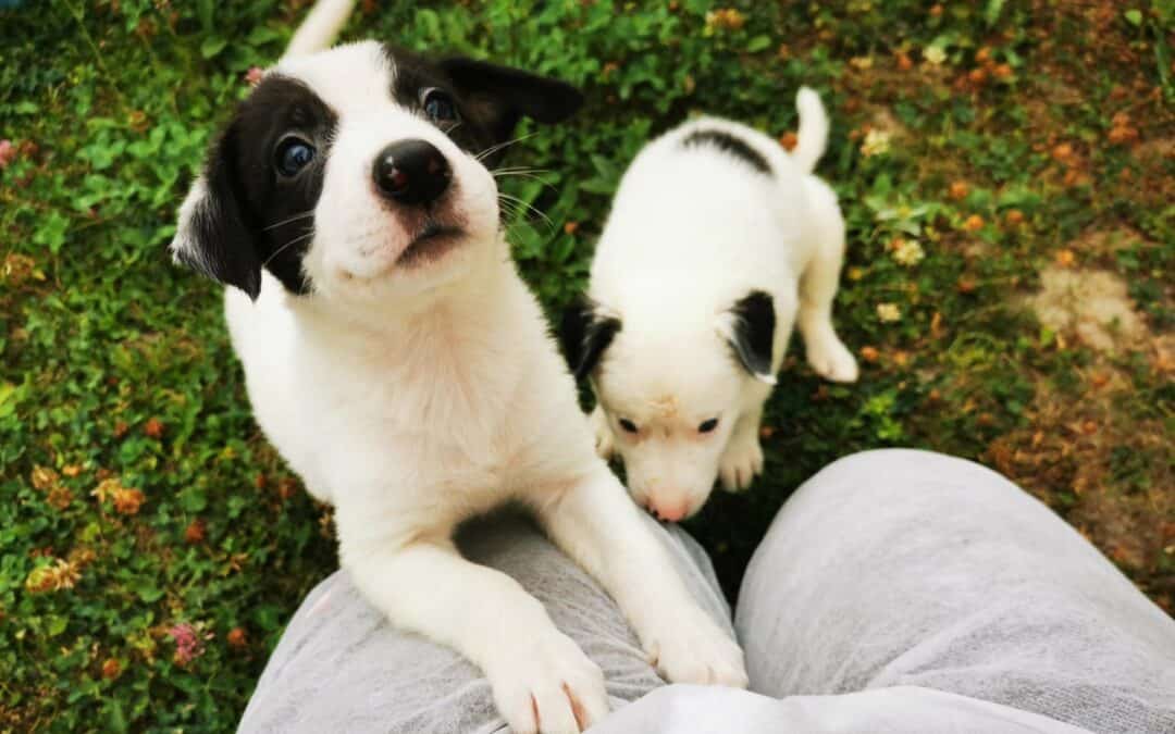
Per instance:
[[[334,541],[251,422],[219,289],[164,244],[246,72],[306,4],[26,5],[0,11],[16,153],[0,170],[0,730],[231,729]],[[691,526],[730,591],[806,477],[915,445],[1009,474],[1171,610],[1169,0],[743,0],[709,23],[698,0],[367,5],[349,38],[586,90],[578,120],[512,150],[551,171],[510,193],[556,223],[511,225],[552,312],[651,134],[705,110],[783,135],[797,87],[822,93],[820,173],[851,242],[837,314],[865,370],[851,386],[786,370],[766,476]],[[862,154],[866,124],[887,151]],[[925,258],[899,263],[895,237]],[[1095,350],[1043,325],[1025,298],[1045,269],[1121,277],[1141,332],[1110,326]],[[177,655],[184,625],[200,644]]]

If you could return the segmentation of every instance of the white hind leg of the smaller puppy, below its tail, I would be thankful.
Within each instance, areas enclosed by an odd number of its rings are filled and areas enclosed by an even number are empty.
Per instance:
[[[812,222],[812,256],[800,276],[799,329],[808,364],[817,375],[832,382],[851,383],[857,381],[857,359],[832,325],[832,302],[837,297],[845,257],[845,221],[832,189],[813,177],[804,183],[815,221]]]

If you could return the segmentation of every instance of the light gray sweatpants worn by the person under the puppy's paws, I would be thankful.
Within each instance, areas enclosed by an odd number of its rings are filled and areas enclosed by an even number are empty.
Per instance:
[[[730,628],[705,553],[677,527],[656,532]],[[603,668],[613,713],[599,734],[1175,733],[1175,620],[1047,507],[961,459],[860,453],[788,499],[733,622],[753,693],[666,686],[611,599],[528,523],[475,525],[461,546]],[[290,621],[241,730],[505,725],[477,668],[394,629],[335,573]]]

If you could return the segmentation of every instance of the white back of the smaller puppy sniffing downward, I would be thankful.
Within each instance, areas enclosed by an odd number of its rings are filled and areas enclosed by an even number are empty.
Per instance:
[[[713,142],[721,136],[744,142],[770,169]],[[670,130],[620,182],[592,262],[591,296],[637,319],[672,310],[693,321],[748,289],[794,301],[810,257],[806,173],[778,142],[738,122],[700,117]]]

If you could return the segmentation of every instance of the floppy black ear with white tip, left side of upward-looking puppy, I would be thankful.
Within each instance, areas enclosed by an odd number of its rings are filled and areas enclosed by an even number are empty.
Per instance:
[[[261,260],[256,227],[249,222],[233,170],[236,137],[233,128],[213,146],[188,197],[180,207],[175,238],[168,249],[177,263],[256,299],[261,292]]]

